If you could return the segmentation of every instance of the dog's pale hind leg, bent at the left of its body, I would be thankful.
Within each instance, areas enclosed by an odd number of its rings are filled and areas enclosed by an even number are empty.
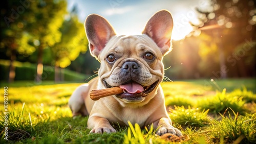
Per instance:
[[[88,92],[88,84],[82,84],[75,89],[69,99],[69,107],[72,111],[73,117],[77,115],[86,116],[89,113],[86,110],[86,106],[84,105],[83,94]]]

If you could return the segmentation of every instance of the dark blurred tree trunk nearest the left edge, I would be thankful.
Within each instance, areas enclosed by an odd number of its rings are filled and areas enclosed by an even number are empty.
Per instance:
[[[10,66],[9,66],[9,78],[8,83],[11,83],[14,81],[15,78],[15,66],[13,62],[16,60],[16,50],[11,47],[11,57],[10,57]]]

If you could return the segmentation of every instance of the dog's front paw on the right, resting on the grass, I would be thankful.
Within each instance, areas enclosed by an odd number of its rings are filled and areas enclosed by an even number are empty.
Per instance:
[[[155,122],[155,123],[157,123],[157,122]],[[154,125],[155,125],[155,123],[154,123]],[[180,132],[180,130],[173,127],[172,121],[170,121],[170,119],[167,117],[162,117],[159,119],[157,128],[158,128],[158,131],[157,131],[158,135],[163,135],[165,133],[172,133],[177,136],[182,136],[182,133]]]

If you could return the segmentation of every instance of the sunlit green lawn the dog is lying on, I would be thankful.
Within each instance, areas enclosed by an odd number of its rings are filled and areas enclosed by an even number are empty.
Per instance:
[[[162,83],[168,114],[184,135],[180,142],[256,141],[256,94],[250,88],[254,81],[247,80],[226,80],[227,87],[216,81],[221,90],[215,84],[204,85],[205,80]],[[241,85],[230,81],[240,81]],[[173,143],[172,136],[158,136],[156,130],[138,125],[114,126],[118,132],[112,134],[89,134],[88,117],[73,119],[67,106],[79,83],[26,83],[30,82],[8,85],[8,140],[4,139],[5,113],[1,110],[0,143]],[[1,86],[3,92],[5,85]]]

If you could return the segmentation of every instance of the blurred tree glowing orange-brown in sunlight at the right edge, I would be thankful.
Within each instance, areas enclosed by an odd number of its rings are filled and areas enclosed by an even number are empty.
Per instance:
[[[255,4],[251,0],[212,0],[210,4],[208,10],[198,9],[198,12],[204,25],[200,28],[202,33],[211,36],[211,41],[217,44],[218,78],[255,76],[255,69],[254,74],[250,73],[255,61],[249,65],[245,62],[247,53],[255,54]],[[245,47],[246,44],[249,46]],[[240,54],[236,52],[238,49]]]

